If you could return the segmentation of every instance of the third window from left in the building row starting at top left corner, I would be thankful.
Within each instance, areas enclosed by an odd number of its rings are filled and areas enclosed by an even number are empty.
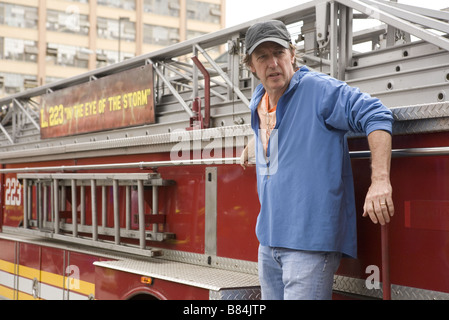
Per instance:
[[[135,23],[131,21],[122,21],[120,23],[121,30],[119,33],[119,22],[116,19],[97,18],[97,33],[102,39],[117,40],[119,35],[124,41],[136,40]]]

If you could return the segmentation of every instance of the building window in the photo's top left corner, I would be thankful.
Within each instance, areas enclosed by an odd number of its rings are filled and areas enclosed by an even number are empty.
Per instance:
[[[37,8],[0,3],[0,24],[18,28],[37,28]]]

